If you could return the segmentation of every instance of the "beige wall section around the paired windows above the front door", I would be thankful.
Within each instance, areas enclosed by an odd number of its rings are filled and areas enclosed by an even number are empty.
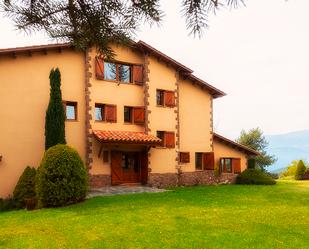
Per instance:
[[[131,64],[143,64],[144,57],[137,50],[113,45],[116,61]],[[144,88],[135,84],[119,83],[115,81],[98,80],[95,76],[95,57],[97,51],[92,49],[91,53],[91,73],[90,78],[90,106],[92,111],[92,120],[90,121],[93,130],[116,130],[116,131],[138,131],[144,132],[143,125],[124,123],[124,106],[144,106]],[[117,122],[98,122],[95,121],[94,108],[96,103],[117,105]],[[110,174],[110,162],[103,163],[102,158],[98,158],[100,143],[93,138],[93,163],[90,170],[91,174]],[[134,150],[132,146],[110,146],[107,150]]]

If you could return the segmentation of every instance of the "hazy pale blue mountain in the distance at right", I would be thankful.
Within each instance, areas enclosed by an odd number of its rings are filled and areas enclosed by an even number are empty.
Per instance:
[[[293,160],[309,161],[309,130],[266,136],[269,142],[268,153],[275,155],[278,161],[268,167],[271,172],[285,169]]]

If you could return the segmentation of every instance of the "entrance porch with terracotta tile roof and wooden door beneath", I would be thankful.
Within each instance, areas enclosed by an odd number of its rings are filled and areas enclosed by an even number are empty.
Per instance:
[[[107,180],[109,184],[105,185],[147,184],[148,152],[151,147],[160,144],[161,139],[143,132],[131,131],[94,130],[93,134],[97,140],[95,145],[97,158],[101,159],[96,160],[96,165],[104,167],[110,176]],[[105,175],[106,177],[108,176]],[[103,185],[92,187],[103,187]],[[132,189],[122,188],[122,190],[125,192]]]

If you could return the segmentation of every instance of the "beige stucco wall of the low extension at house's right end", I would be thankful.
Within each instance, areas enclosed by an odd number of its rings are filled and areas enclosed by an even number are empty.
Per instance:
[[[218,140],[214,140],[215,166],[220,166],[220,158],[240,158],[241,171],[247,168],[247,155],[231,146]]]

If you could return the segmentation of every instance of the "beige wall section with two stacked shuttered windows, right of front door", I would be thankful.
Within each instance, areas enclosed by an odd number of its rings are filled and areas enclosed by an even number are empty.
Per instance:
[[[177,107],[157,106],[156,90],[177,90],[177,77],[175,69],[168,67],[165,63],[158,61],[155,57],[148,57],[149,69],[149,106],[150,111],[149,129],[150,134],[156,136],[157,131],[173,131],[176,135]],[[177,139],[175,138],[175,141]],[[152,148],[149,152],[149,167],[152,173],[171,173],[176,172],[176,148]]]

